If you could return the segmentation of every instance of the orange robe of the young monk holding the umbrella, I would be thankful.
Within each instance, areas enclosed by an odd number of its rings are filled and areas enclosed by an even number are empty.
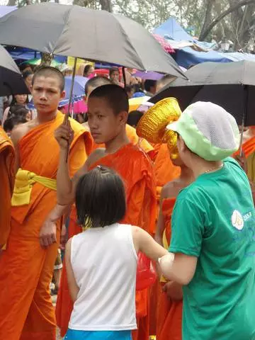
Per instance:
[[[129,144],[121,147],[114,154],[108,154],[91,166],[108,166],[120,174],[126,186],[127,214],[123,223],[138,225],[147,232],[152,233],[154,229],[156,213],[156,196],[152,164],[149,157],[135,145]],[[69,237],[81,232],[81,227],[69,225]],[[133,339],[148,340],[149,319],[148,319],[148,290],[137,292],[137,326]],[[69,297],[65,268],[62,272],[59,295],[57,297],[57,324],[61,329],[61,335],[67,331],[69,317],[72,312],[72,301]]]

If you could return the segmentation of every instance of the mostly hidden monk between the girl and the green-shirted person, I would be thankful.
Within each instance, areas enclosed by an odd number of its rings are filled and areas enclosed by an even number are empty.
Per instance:
[[[175,166],[181,166],[181,174],[162,189],[156,239],[166,249],[171,240],[171,214],[179,192],[193,181],[193,174],[181,159],[174,159]],[[157,306],[157,340],[181,340],[182,289],[175,282],[161,278]]]

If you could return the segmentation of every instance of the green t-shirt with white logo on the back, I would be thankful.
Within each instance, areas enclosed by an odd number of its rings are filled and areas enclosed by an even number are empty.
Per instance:
[[[198,257],[183,287],[183,340],[255,339],[255,222],[249,181],[234,159],[183,189],[170,251]]]

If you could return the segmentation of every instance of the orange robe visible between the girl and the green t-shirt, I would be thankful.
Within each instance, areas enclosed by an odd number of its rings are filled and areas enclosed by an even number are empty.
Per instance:
[[[162,203],[165,234],[168,244],[171,240],[171,215],[176,198],[166,198]],[[164,283],[163,283],[164,285]],[[181,340],[182,301],[171,301],[159,287],[157,308],[157,340]]]

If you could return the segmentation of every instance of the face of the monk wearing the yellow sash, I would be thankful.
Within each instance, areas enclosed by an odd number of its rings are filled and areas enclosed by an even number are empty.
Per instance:
[[[60,91],[60,80],[57,77],[39,76],[35,78],[32,95],[38,113],[50,115],[57,111],[57,106],[65,93]]]

